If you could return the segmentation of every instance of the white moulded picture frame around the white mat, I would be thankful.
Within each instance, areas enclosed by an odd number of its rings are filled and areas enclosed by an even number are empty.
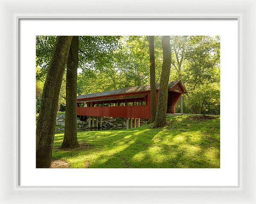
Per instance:
[[[255,0],[0,0],[0,203],[256,204]],[[238,187],[18,185],[18,25],[23,18],[233,18],[239,22]],[[234,87],[236,88],[236,87]]]

